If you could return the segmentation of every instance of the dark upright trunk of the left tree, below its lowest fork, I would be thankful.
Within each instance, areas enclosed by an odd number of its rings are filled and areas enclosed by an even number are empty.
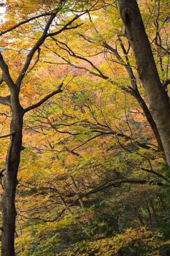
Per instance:
[[[4,174],[4,193],[2,198],[2,256],[15,256],[14,236],[16,223],[15,194],[18,184],[17,173],[20,164],[20,151],[22,144],[22,109],[13,113],[11,121],[10,146],[6,157],[6,170]]]

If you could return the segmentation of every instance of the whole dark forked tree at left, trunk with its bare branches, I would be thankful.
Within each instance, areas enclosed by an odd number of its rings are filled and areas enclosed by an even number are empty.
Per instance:
[[[37,108],[38,106],[43,104],[46,100],[48,100],[55,94],[62,92],[61,87],[63,86],[63,82],[62,82],[58,86],[57,90],[45,96],[42,100],[40,100],[36,104],[33,104],[32,106],[29,106],[24,109],[20,104],[20,98],[19,98],[21,83],[24,77],[33,68],[32,67],[29,71],[27,71],[36,51],[38,51],[38,56],[39,56],[40,46],[44,43],[46,38],[57,35],[63,32],[64,30],[74,29],[79,26],[79,25],[76,25],[76,26],[70,27],[70,24],[72,24],[72,22],[77,20],[82,14],[86,13],[86,11],[82,12],[79,15],[75,15],[74,18],[72,18],[69,22],[65,23],[61,29],[57,30],[57,32],[48,32],[51,25],[53,24],[53,21],[56,15],[63,9],[65,2],[66,2],[65,0],[61,0],[58,2],[58,6],[55,7],[51,12],[42,13],[37,16],[34,16],[33,18],[27,18],[26,20],[21,21],[20,23],[0,33],[2,36],[18,28],[22,24],[26,24],[37,18],[47,17],[47,21],[43,28],[43,33],[41,34],[37,42],[33,45],[31,50],[29,51],[29,54],[27,55],[27,58],[23,65],[23,68],[21,69],[20,74],[15,82],[10,75],[8,65],[6,64],[2,54],[0,53],[0,67],[2,69],[1,82],[4,81],[10,90],[10,95],[6,97],[2,97],[2,96],[0,97],[0,103],[3,105],[9,106],[12,112],[10,134],[8,134],[8,136],[10,136],[10,146],[8,148],[8,153],[6,156],[6,165],[5,165],[5,174],[4,174],[4,193],[3,193],[3,199],[2,199],[2,256],[15,255],[15,252],[14,252],[14,234],[15,234],[15,221],[16,221],[15,193],[16,193],[16,186],[18,184],[17,173],[18,173],[18,166],[20,164],[20,152],[21,152],[21,146],[22,146],[23,116],[26,112],[34,108]]]

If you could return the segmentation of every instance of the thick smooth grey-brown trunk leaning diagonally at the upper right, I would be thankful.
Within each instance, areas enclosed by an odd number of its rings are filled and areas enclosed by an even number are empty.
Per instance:
[[[148,96],[150,111],[170,167],[170,104],[160,82],[150,43],[136,0],[119,0],[125,32],[133,48],[139,78]]]

